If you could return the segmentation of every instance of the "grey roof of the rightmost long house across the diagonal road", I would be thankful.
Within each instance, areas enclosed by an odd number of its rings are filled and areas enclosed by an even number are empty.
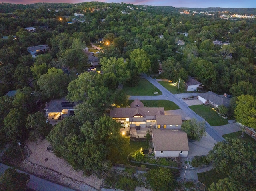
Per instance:
[[[226,94],[226,96],[224,96],[224,95],[218,95],[212,91],[209,91],[209,92],[201,93],[198,96],[200,96],[206,100],[209,100],[218,106],[224,105],[225,107],[228,107],[229,102],[230,102],[230,96],[227,94]]]

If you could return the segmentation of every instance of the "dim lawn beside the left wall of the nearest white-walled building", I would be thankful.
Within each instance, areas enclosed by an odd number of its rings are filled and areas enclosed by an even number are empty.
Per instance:
[[[127,160],[128,154],[139,150],[140,148],[148,149],[148,142],[146,141],[130,141],[130,145],[125,150],[124,154],[120,155],[118,150],[113,150],[109,156],[109,159],[114,163],[134,165]]]

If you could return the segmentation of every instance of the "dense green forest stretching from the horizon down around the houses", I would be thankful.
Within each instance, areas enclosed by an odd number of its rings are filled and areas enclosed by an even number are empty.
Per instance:
[[[255,19],[223,20],[218,13],[213,18],[179,14],[179,8],[124,3],[26,6],[2,3],[0,7],[2,137],[19,140],[46,137],[57,156],[75,169],[102,173],[111,166],[108,153],[115,143],[120,148],[128,144],[117,133],[120,125],[104,116],[113,104],[126,106],[128,102],[127,95],[117,89],[118,84],[136,85],[142,73],[158,73],[159,63],[165,71],[163,77],[174,82],[186,81],[190,75],[203,83],[204,91],[232,95],[229,114],[244,125],[256,126]],[[122,10],[128,14],[122,14]],[[84,14],[85,22],[67,24],[75,12]],[[39,27],[43,25],[48,30]],[[32,26],[36,28],[34,33],[24,29]],[[181,34],[185,32],[188,36]],[[90,64],[83,49],[99,38],[110,43],[103,45],[99,54],[103,75],[84,72]],[[178,40],[185,45],[178,46]],[[214,45],[214,40],[229,45]],[[36,58],[28,53],[28,46],[43,44],[50,47],[48,53]],[[65,73],[65,69],[70,73]],[[4,96],[10,90],[17,90],[16,95]],[[80,110],[51,127],[45,123],[44,103],[64,96],[82,102],[78,104]],[[248,120],[244,120],[246,116]],[[85,152],[88,147],[91,152]],[[81,156],[94,162],[89,163]]]

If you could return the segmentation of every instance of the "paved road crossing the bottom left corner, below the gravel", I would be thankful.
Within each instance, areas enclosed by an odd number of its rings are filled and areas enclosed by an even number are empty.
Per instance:
[[[0,175],[4,173],[6,169],[10,168],[9,166],[6,166],[2,163],[0,163]],[[24,173],[23,171],[18,170],[19,172]],[[28,173],[26,173],[28,174]],[[34,175],[30,175],[30,180],[28,182],[28,187],[30,189],[36,190],[36,191],[75,191],[70,188],[52,183],[50,181],[44,180],[42,178],[36,177]]]

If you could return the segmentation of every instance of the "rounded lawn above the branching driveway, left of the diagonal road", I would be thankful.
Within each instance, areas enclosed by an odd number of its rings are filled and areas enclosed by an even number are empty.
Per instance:
[[[158,94],[154,94],[155,92],[158,92]],[[133,96],[156,96],[156,95],[162,95],[162,92],[154,88],[154,85],[147,81],[146,79],[140,79],[138,85],[134,87],[129,87],[127,85],[124,86],[123,91],[128,95]]]

